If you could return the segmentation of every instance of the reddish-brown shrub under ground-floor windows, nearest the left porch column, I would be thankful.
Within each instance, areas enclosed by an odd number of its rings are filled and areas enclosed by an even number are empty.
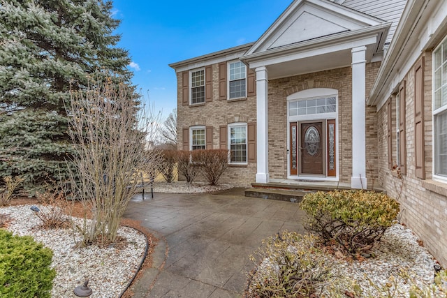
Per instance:
[[[208,149],[198,150],[194,159],[202,166],[202,172],[210,185],[216,185],[219,178],[228,167],[228,150]]]

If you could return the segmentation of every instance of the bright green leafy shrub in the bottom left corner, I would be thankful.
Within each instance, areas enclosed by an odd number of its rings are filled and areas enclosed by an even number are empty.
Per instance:
[[[50,297],[52,251],[30,236],[0,230],[0,297]]]

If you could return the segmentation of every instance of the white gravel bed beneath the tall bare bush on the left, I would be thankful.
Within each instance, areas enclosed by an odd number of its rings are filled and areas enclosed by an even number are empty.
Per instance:
[[[124,248],[75,248],[75,239],[81,239],[79,234],[73,237],[71,228],[40,228],[42,222],[30,207],[1,208],[0,214],[8,214],[12,219],[7,230],[20,236],[32,236],[53,251],[52,267],[57,274],[53,281],[52,297],[76,297],[74,288],[82,285],[87,278],[93,290],[91,298],[119,297],[140,265],[146,249],[145,236],[133,228],[122,227],[118,234],[127,240]]]

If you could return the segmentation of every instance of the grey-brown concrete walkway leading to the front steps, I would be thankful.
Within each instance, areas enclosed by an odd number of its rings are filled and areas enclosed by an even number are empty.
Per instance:
[[[131,287],[134,297],[241,297],[254,268],[249,255],[272,234],[303,233],[305,216],[296,203],[243,195],[233,188],[135,197],[124,217],[141,221],[160,241],[154,265]]]

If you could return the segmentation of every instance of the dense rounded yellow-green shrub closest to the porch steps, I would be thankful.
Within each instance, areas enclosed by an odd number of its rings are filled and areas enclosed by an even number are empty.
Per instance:
[[[396,200],[373,191],[309,193],[300,207],[307,212],[307,230],[353,254],[369,250],[399,213]]]

